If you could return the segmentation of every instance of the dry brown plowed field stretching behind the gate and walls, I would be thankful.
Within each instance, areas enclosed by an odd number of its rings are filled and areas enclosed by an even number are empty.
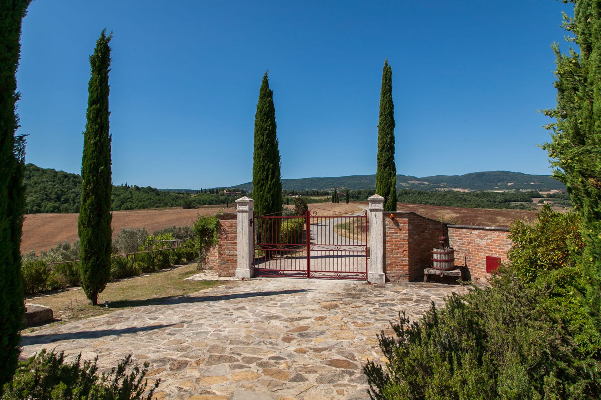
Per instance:
[[[358,206],[367,207],[367,202],[346,203],[319,203],[310,204],[310,208],[319,208],[317,215],[330,215],[329,210],[354,213]],[[325,209],[325,210],[322,210]],[[534,211],[524,210],[489,210],[459,207],[424,206],[421,204],[398,203],[399,211],[413,211],[420,215],[445,222],[463,225],[482,225],[507,227],[515,219],[534,219]],[[172,226],[192,225],[197,214],[211,215],[218,211],[235,212],[234,207],[202,207],[198,209],[183,210],[180,208],[148,209],[113,212],[112,227],[113,237],[117,236],[121,228],[146,228],[149,233]],[[73,243],[77,236],[78,214],[31,214],[25,216],[23,224],[23,241],[21,251],[29,252],[32,249],[38,254],[56,246],[59,242]]]

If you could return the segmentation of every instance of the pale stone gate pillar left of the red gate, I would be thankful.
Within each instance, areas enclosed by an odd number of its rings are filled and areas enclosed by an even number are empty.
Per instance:
[[[252,248],[254,227],[251,222],[254,219],[254,208],[252,206],[254,202],[246,196],[236,200],[238,222],[236,278],[252,278],[254,275],[254,269],[252,269],[252,259],[255,255],[255,250]]]

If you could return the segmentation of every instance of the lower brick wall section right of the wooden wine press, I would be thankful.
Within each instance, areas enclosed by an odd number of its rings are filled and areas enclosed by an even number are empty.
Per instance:
[[[448,225],[450,246],[455,248],[455,265],[465,266],[463,279],[485,281],[486,257],[498,257],[507,261],[511,240],[507,239],[509,228],[473,227],[468,225]]]

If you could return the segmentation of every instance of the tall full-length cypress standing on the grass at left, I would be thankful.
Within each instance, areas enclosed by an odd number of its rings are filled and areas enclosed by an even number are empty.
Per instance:
[[[111,135],[109,134],[109,67],[112,34],[102,31],[90,56],[88,111],[81,164],[81,207],[78,234],[81,280],[93,305],[111,272]]]

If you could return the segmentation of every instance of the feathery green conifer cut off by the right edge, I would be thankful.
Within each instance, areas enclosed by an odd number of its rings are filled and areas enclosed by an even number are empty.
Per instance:
[[[554,178],[564,182],[581,216],[585,242],[582,270],[590,288],[589,311],[601,330],[601,4],[577,1],[573,19],[564,26],[576,35],[580,54],[563,54],[555,43],[557,107],[545,114],[556,118],[552,142],[545,143]]]

